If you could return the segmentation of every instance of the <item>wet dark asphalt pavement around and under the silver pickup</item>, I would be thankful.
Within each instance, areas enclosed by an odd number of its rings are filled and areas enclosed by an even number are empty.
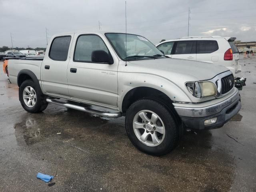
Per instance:
[[[239,114],[220,129],[186,132],[161,157],[134,148],[123,117],[53,104],[39,114],[24,111],[1,68],[0,191],[256,191],[256,58],[240,64],[247,82]],[[56,184],[49,187],[38,172]]]

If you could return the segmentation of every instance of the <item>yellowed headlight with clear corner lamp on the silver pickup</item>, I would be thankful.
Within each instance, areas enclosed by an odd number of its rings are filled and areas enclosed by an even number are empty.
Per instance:
[[[217,88],[212,82],[187,82],[186,88],[194,97],[202,98],[217,94]]]

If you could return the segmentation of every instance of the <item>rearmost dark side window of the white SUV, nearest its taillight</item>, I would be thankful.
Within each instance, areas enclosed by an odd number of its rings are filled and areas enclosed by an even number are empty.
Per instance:
[[[196,53],[212,53],[219,49],[217,41],[214,40],[200,40],[196,44]]]

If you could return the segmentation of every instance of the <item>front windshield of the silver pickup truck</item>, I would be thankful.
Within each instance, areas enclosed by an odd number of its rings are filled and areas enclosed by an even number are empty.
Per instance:
[[[106,37],[122,60],[143,60],[165,56],[146,38],[123,33],[106,33]]]

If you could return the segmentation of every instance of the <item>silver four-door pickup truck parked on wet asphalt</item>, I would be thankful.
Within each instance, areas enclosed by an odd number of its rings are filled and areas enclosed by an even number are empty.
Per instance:
[[[43,59],[10,60],[8,69],[26,111],[41,112],[53,103],[110,118],[125,116],[131,142],[151,155],[174,149],[185,126],[220,128],[241,108],[230,70],[168,58],[134,34],[58,34]]]

